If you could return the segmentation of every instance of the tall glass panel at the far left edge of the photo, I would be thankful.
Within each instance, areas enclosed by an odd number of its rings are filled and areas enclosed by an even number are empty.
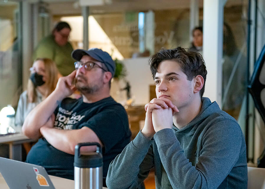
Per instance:
[[[21,92],[19,3],[0,2],[0,110],[17,106]]]

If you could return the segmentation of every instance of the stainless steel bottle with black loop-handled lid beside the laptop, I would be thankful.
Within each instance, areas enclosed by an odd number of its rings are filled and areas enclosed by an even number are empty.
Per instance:
[[[97,146],[95,152],[80,152],[82,146]],[[102,189],[102,148],[97,142],[79,143],[74,151],[74,188]]]

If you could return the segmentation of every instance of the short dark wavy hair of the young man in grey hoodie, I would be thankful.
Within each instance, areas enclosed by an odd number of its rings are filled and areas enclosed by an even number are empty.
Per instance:
[[[186,74],[187,79],[190,81],[197,75],[201,75],[204,79],[204,85],[200,90],[200,95],[202,97],[204,93],[207,70],[201,54],[186,51],[181,47],[177,47],[175,49],[161,49],[149,58],[149,65],[153,78],[155,78],[160,62],[165,60],[173,60],[179,63],[181,70],[184,74]]]

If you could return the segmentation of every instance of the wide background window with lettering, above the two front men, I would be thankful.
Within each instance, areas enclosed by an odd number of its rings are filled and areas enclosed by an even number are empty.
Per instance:
[[[188,48],[189,14],[187,8],[91,14],[89,47],[102,48],[118,59],[149,56],[161,48]],[[53,20],[69,22],[69,40],[74,48],[83,48],[82,16],[57,16]]]

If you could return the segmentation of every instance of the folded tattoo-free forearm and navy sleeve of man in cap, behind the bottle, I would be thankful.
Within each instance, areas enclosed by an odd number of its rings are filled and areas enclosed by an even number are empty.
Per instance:
[[[106,152],[125,135],[125,126],[119,115],[126,116],[125,110],[119,111],[118,114],[113,108],[105,107],[101,112],[76,126],[76,129],[53,128],[54,124],[47,123],[40,128],[40,132],[53,147],[68,154],[74,154],[75,145],[82,142],[97,142],[104,147]],[[53,123],[54,119],[55,117],[52,120]],[[95,149],[95,146],[89,146],[82,147],[81,151],[95,151]]]

